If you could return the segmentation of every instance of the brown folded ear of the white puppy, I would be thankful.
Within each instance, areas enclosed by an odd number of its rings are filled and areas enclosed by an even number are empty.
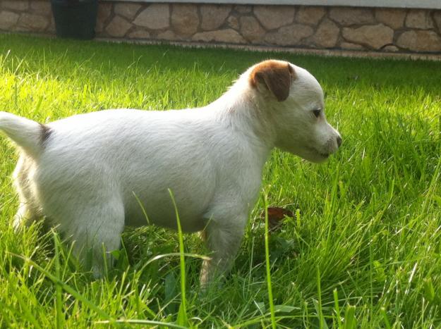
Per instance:
[[[277,101],[284,101],[289,96],[291,81],[296,77],[294,68],[281,61],[263,61],[250,74],[250,85],[258,88],[264,85],[274,94]]]

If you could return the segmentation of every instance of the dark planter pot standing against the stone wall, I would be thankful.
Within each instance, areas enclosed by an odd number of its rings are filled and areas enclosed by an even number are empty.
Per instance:
[[[51,0],[56,36],[93,39],[98,0]]]

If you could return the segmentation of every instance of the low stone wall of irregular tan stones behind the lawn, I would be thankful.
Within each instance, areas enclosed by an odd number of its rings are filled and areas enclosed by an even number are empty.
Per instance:
[[[54,34],[49,0],[0,0],[0,30]],[[101,1],[97,37],[441,53],[441,11]]]

